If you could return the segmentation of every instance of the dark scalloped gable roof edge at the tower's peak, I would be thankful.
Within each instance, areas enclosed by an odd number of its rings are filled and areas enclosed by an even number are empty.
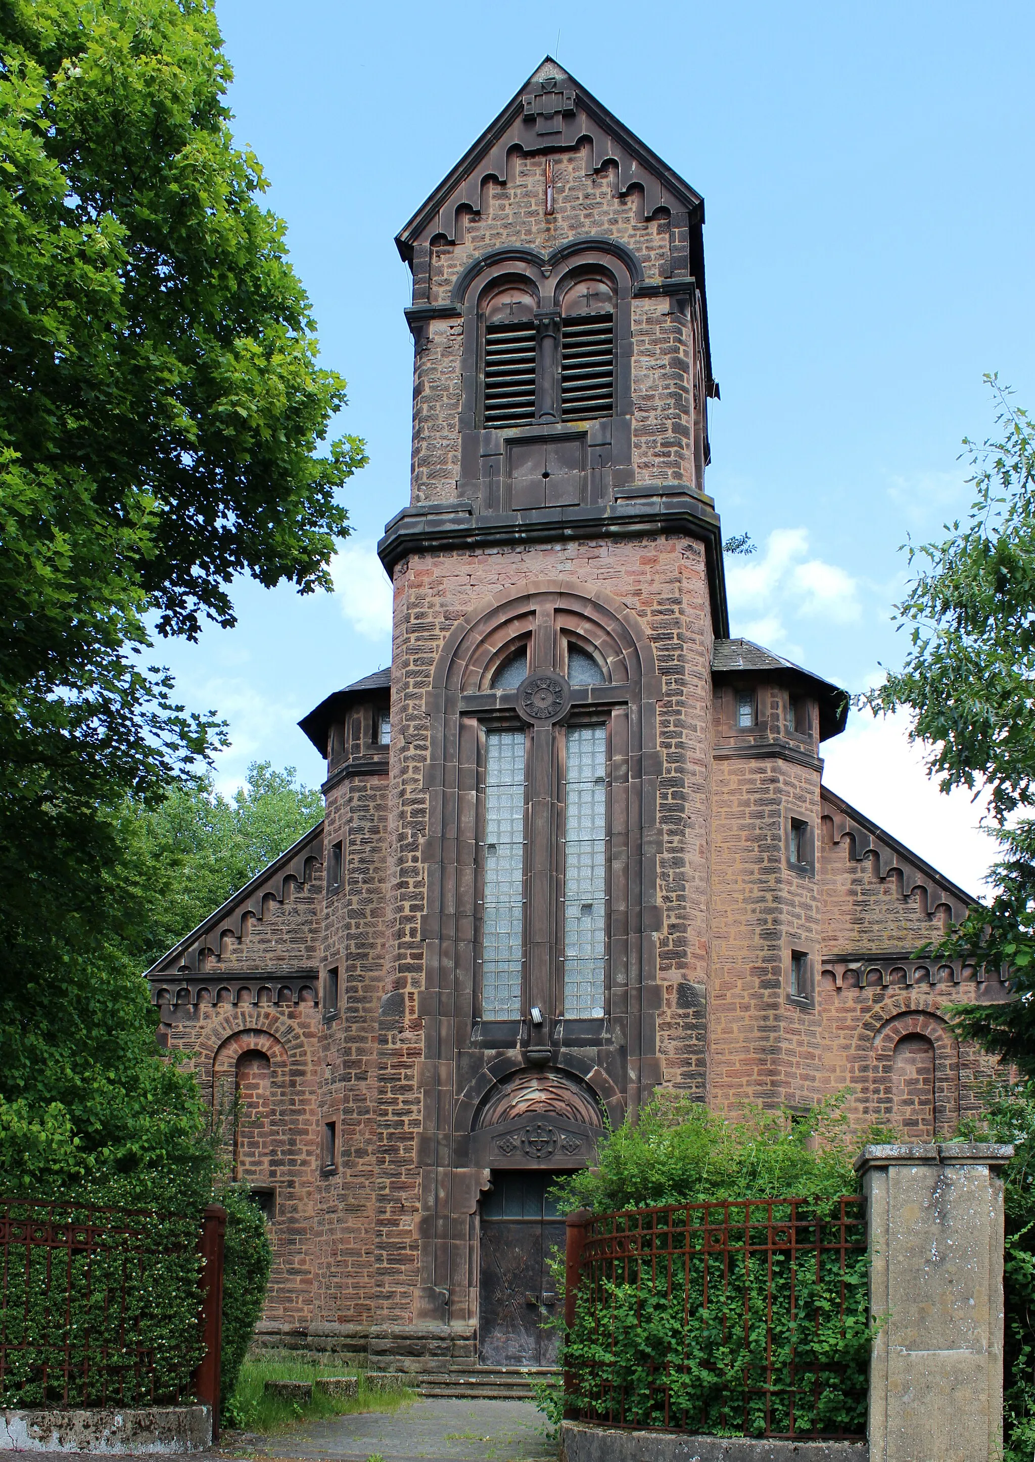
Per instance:
[[[544,98],[551,110],[544,118]],[[557,121],[560,118],[560,121]],[[544,121],[548,126],[544,129]],[[690,254],[689,273],[700,291],[702,325],[705,333],[705,364],[708,385],[712,385],[710,349],[708,344],[708,303],[705,295],[705,249],[702,228],[705,200],[686,178],[681,178],[646,142],[630,132],[582,82],[545,56],[482,135],[463,154],[441,183],[424,199],[409,222],[396,234],[396,247],[412,268],[414,250],[441,237],[456,240],[459,211],[481,213],[481,186],[485,178],[507,181],[507,155],[575,149],[591,143],[594,171],[605,162],[618,168],[618,192],[643,189],[645,216],[667,208],[686,215]]]

